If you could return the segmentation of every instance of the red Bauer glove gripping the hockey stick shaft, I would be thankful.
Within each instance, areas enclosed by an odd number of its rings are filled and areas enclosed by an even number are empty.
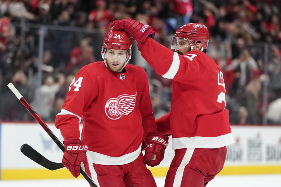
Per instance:
[[[63,143],[65,151],[62,163],[74,177],[78,177],[81,162],[87,162],[88,146],[85,145],[84,140],[81,141],[80,139],[65,139]]]

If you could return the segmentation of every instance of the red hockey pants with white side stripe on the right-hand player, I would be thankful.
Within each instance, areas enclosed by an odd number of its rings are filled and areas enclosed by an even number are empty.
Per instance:
[[[165,187],[205,187],[225,163],[226,147],[176,149]]]

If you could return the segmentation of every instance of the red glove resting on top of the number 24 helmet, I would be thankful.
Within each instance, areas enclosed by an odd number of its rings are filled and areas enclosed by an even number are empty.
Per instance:
[[[115,20],[110,23],[109,27],[113,27],[114,30],[125,30],[125,32],[133,37],[138,49],[141,47],[141,42],[145,41],[148,36],[152,39],[155,36],[155,31],[152,30],[151,26],[144,25],[136,20],[132,20],[131,18]]]

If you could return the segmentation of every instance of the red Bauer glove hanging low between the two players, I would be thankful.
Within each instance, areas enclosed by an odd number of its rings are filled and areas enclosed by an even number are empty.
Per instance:
[[[164,159],[164,152],[168,145],[169,137],[161,133],[153,133],[148,136],[148,144],[145,148],[144,161],[151,167],[157,166]]]

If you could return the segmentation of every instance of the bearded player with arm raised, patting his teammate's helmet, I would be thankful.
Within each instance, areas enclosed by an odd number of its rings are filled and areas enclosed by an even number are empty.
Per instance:
[[[173,79],[171,112],[156,120],[159,132],[172,134],[175,150],[165,187],[206,186],[222,170],[226,146],[234,143],[223,72],[205,53],[208,28],[201,23],[180,27],[171,40],[174,52],[153,40],[149,25],[124,19],[110,27],[124,29],[155,72]]]

